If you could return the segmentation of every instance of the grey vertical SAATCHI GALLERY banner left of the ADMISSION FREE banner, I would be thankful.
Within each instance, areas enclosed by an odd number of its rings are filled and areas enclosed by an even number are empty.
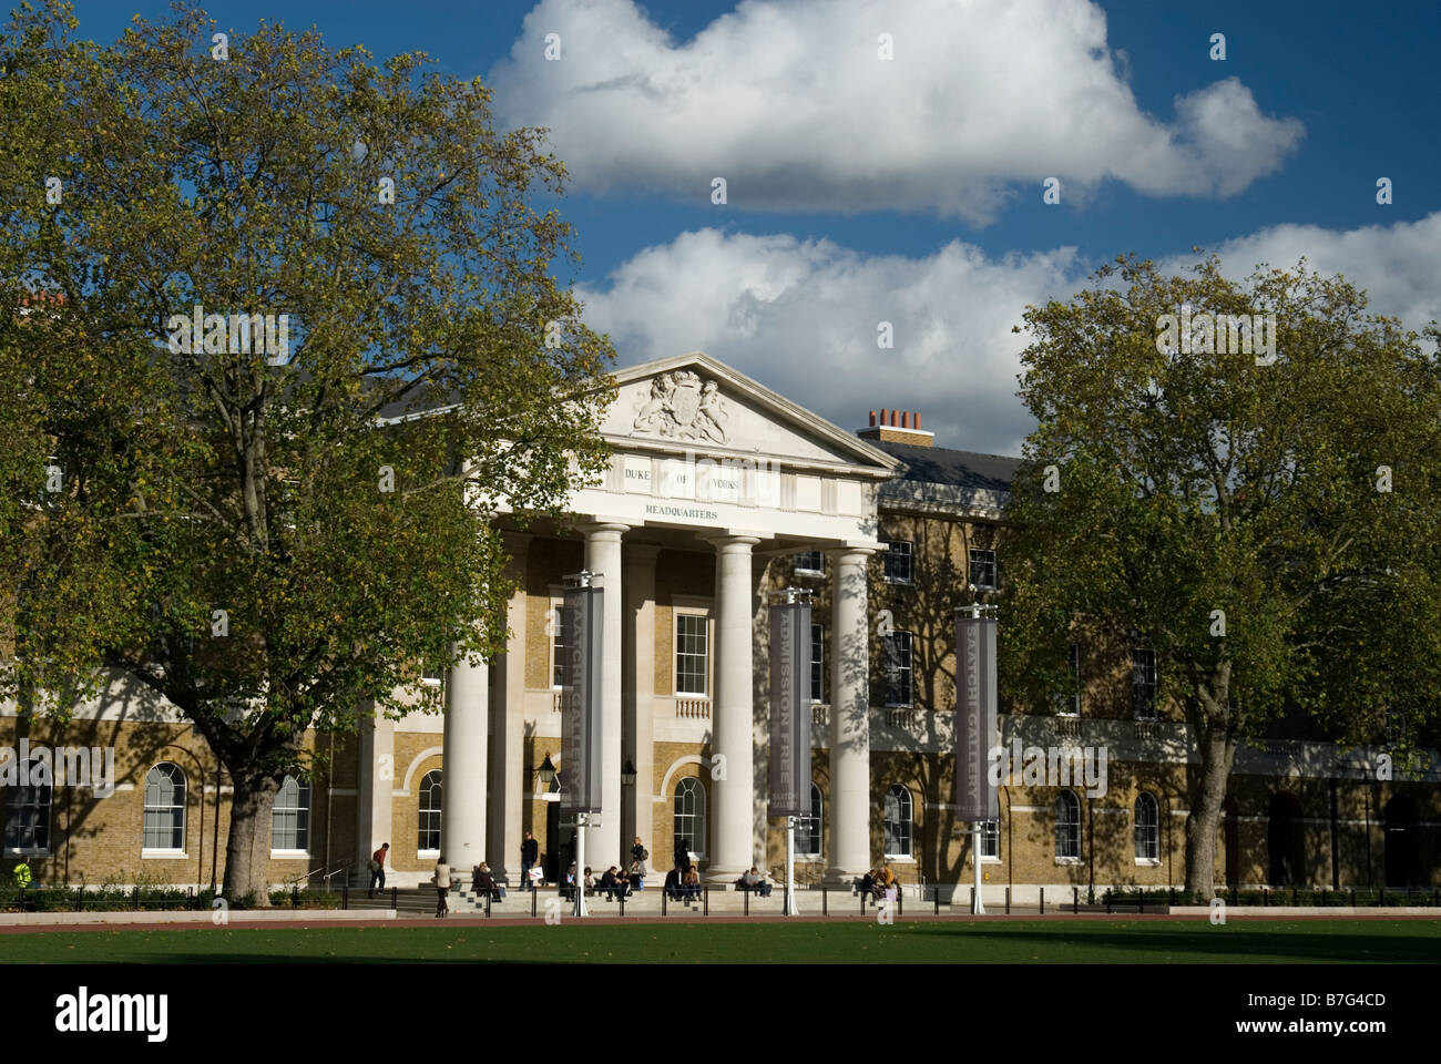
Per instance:
[[[605,590],[568,587],[561,649],[561,813],[601,812],[601,668]],[[614,768],[614,766],[612,766]]]

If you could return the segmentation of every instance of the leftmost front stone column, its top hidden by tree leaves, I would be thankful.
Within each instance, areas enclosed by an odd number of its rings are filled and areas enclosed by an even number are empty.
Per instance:
[[[486,859],[490,669],[455,663],[445,685],[445,774],[441,777],[441,856],[468,877]]]

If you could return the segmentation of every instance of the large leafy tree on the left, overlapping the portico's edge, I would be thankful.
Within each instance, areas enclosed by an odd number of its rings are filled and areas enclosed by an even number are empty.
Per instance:
[[[542,131],[422,55],[216,29],[98,46],[50,3],[0,37],[0,696],[63,717],[120,670],[179,706],[233,783],[225,888],[264,898],[307,730],[503,644],[486,515],[601,467],[612,353],[550,272]]]

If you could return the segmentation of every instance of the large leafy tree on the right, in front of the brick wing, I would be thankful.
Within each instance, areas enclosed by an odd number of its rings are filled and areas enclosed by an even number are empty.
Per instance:
[[[1123,258],[1025,316],[1012,696],[1063,691],[1078,639],[1121,669],[1136,640],[1157,652],[1199,754],[1186,888],[1206,897],[1238,744],[1369,742],[1395,711],[1414,735],[1441,706],[1435,324],[1428,340],[1365,307],[1304,262],[1236,284],[1215,258],[1186,277]],[[1226,353],[1242,314],[1274,316],[1274,358],[1261,334]],[[1203,316],[1226,316],[1215,342]]]

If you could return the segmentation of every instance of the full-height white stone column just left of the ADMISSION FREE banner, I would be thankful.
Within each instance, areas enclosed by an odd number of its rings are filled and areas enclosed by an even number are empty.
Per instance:
[[[712,770],[710,868],[715,882],[733,881],[755,864],[751,830],[755,802],[755,750],[752,747],[751,548],[757,536],[725,535],[716,548],[716,691],[712,701],[718,758]]]

